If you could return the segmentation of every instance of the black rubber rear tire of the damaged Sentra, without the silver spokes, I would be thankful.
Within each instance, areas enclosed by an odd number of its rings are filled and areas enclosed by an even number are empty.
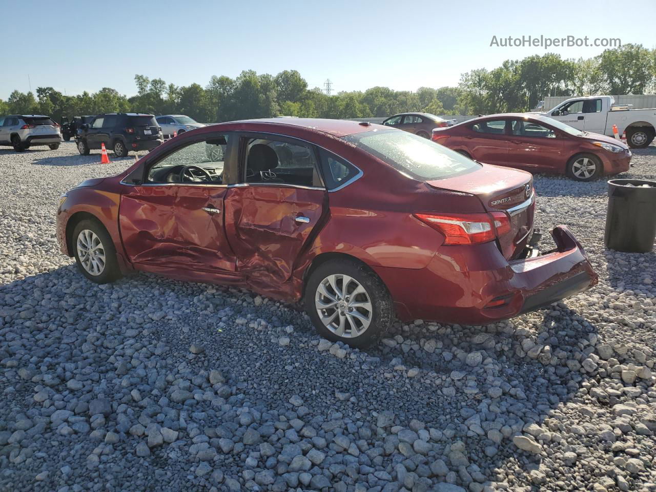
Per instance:
[[[340,299],[335,295],[337,291],[333,290],[329,292],[340,300],[335,304],[335,308],[331,307],[322,310],[323,314],[327,317],[336,314],[335,316],[337,317],[333,316],[332,318],[333,322],[343,318],[343,323],[346,327],[344,335],[346,336],[340,336],[335,333],[335,331],[329,329],[329,327],[321,321],[318,308],[316,307],[316,297],[318,295],[323,296],[323,294],[318,293],[318,289],[330,276],[338,276],[337,282],[341,279],[342,283],[338,283],[338,289],[344,287],[344,279],[340,276],[348,276],[354,279],[356,283],[359,283],[365,291],[364,294],[357,294],[351,299],[348,295],[349,290],[351,292],[355,291],[356,285],[351,281],[348,281],[348,285],[346,286],[347,295],[345,295],[343,299]],[[350,304],[350,302],[358,302],[359,304],[362,304],[363,300],[367,300],[369,301],[371,310],[362,307],[350,307],[346,304],[347,299],[348,304]],[[392,297],[380,277],[365,264],[348,258],[328,260],[314,269],[306,282],[303,302],[308,316],[312,319],[312,323],[321,337],[327,338],[333,342],[344,342],[352,347],[364,347],[380,340],[380,337],[387,333],[390,328],[392,317],[394,316]],[[342,304],[342,307],[338,308],[338,304]],[[360,316],[354,316],[353,314],[348,314],[348,312],[356,312],[358,315],[366,316],[369,319],[369,325],[363,329],[359,335],[357,334],[357,329],[355,336],[350,335],[350,333],[354,331],[350,323],[361,323],[361,321],[359,321]],[[362,329],[363,324],[360,325],[359,328]],[[350,333],[346,333],[347,331]]]

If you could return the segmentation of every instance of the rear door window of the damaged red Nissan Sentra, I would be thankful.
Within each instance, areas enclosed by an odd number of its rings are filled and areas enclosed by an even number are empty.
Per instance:
[[[281,140],[249,138],[245,182],[323,186],[314,149]]]

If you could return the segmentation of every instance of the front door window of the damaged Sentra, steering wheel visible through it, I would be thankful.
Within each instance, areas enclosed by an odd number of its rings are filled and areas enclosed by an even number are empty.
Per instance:
[[[188,144],[148,169],[149,183],[221,184],[228,135],[212,136]]]

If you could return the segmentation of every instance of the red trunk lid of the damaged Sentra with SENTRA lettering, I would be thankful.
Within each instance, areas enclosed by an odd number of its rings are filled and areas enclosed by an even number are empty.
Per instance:
[[[533,176],[530,173],[483,164],[473,173],[427,183],[433,188],[475,195],[486,211],[507,213],[510,231],[499,236],[497,241],[506,259],[518,255],[530,239],[535,212]]]

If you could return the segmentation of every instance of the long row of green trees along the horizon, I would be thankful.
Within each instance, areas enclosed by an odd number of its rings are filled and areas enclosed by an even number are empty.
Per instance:
[[[501,66],[463,73],[457,87],[420,87],[327,95],[308,88],[296,70],[277,75],[245,70],[232,79],[211,77],[205,87],[177,86],[162,79],[135,75],[136,95],[127,97],[104,87],[90,94],[64,95],[52,87],[13,91],[0,99],[0,114],[39,113],[62,116],[106,112],[186,114],[203,123],[279,115],[320,118],[385,117],[422,111],[437,115],[524,112],[545,96],[644,94],[656,89],[656,50],[642,45],[608,49],[594,58],[562,59],[547,53],[506,60]]]

